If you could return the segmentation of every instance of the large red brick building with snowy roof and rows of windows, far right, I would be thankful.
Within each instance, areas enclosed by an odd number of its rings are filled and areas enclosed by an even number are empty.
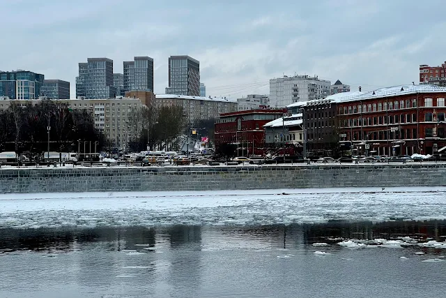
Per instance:
[[[339,140],[353,154],[446,154],[446,88],[408,85],[334,100]]]

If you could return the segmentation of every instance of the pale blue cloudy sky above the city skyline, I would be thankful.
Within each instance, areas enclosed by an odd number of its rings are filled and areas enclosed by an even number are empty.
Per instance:
[[[210,96],[268,94],[282,75],[318,75],[363,91],[419,81],[446,61],[444,0],[0,0],[0,70],[70,82],[79,62],[154,59],[155,93],[168,58],[200,61]]]

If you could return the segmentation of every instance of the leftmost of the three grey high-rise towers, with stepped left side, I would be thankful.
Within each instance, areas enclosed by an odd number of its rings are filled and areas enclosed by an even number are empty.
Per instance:
[[[79,76],[76,77],[77,98],[99,99],[115,96],[112,59],[89,58],[86,63],[79,63]]]

